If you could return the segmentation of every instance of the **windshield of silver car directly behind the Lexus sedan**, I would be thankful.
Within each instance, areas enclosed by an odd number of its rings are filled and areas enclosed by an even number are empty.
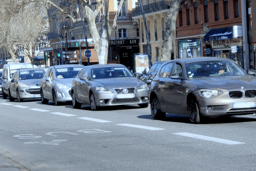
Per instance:
[[[63,67],[57,68],[56,70],[56,77],[59,79],[62,78],[75,78],[76,75],[83,67]]]

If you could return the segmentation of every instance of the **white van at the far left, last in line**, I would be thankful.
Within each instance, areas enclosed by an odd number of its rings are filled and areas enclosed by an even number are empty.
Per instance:
[[[34,68],[31,63],[7,63],[3,67],[2,74],[2,94],[3,98],[6,99],[9,95],[9,82],[11,81],[12,75],[17,69],[22,68]]]

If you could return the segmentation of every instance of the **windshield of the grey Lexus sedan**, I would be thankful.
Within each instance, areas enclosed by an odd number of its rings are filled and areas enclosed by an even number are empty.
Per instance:
[[[92,78],[117,78],[117,77],[133,77],[131,71],[125,67],[106,67],[92,69]]]

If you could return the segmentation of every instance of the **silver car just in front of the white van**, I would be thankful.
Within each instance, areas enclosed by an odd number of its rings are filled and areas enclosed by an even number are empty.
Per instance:
[[[42,69],[18,69],[9,83],[9,99],[18,102],[23,99],[40,98],[40,81],[44,77]]]

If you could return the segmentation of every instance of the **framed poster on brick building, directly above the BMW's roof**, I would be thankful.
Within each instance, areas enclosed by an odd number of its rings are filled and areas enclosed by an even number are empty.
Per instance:
[[[179,44],[179,58],[201,56],[200,39],[178,40],[178,44]]]

